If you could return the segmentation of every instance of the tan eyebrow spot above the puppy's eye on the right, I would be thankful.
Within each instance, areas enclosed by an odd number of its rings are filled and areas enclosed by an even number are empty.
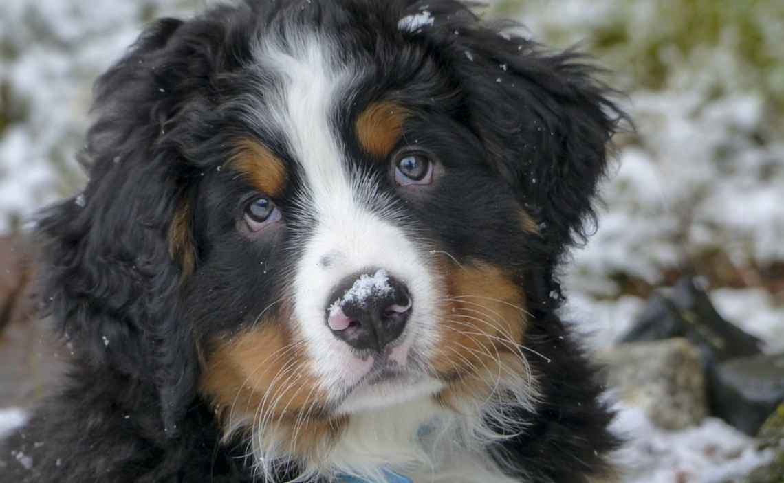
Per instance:
[[[408,111],[389,101],[372,103],[357,118],[357,138],[368,153],[386,158],[403,135]]]

